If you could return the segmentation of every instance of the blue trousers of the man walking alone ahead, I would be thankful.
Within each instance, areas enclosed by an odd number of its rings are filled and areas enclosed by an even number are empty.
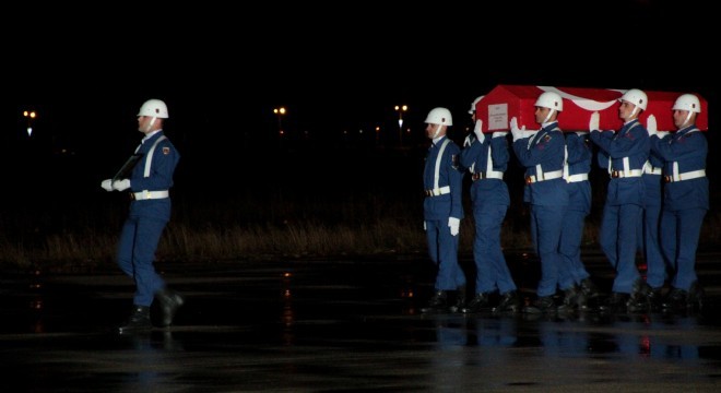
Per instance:
[[[167,221],[131,215],[126,219],[118,245],[118,266],[135,282],[135,306],[153,303],[165,281],[155,272],[155,250]]]

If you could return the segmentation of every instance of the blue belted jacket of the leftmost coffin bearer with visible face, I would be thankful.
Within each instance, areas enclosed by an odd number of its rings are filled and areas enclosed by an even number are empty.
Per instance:
[[[540,176],[537,166],[544,174],[563,170],[565,148],[566,140],[557,121],[541,128],[531,138],[522,138],[513,142],[513,152],[519,163],[525,167],[525,177]],[[529,183],[524,189],[523,201],[534,205],[567,205],[566,180],[557,178]]]

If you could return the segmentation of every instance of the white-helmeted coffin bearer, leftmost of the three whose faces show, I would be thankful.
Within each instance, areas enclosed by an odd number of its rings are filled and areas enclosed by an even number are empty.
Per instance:
[[[568,209],[568,188],[564,179],[566,140],[556,119],[563,110],[560,95],[544,92],[535,102],[535,121],[541,124],[536,133],[529,136],[528,131],[518,128],[516,118],[510,120],[513,152],[525,167],[523,201],[531,205],[531,237],[541,260],[537,299],[524,309],[525,312],[556,311],[554,296],[565,263],[559,252],[560,235]]]

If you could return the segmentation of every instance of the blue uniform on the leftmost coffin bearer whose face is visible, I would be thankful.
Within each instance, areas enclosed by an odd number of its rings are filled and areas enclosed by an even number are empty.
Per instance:
[[[541,260],[539,297],[556,293],[560,284],[559,270],[565,263],[559,246],[568,209],[568,188],[564,179],[566,141],[557,124],[557,121],[544,123],[533,136],[513,142],[513,152],[525,167],[523,201],[531,205],[531,237]]]

